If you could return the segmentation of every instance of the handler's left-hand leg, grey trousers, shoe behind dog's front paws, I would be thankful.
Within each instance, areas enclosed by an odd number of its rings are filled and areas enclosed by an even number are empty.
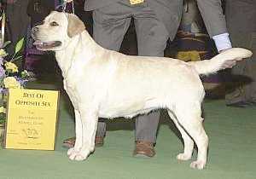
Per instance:
[[[131,15],[124,3],[111,3],[107,7],[92,12],[93,38],[106,49],[119,51],[125,32],[130,26]],[[99,118],[96,131],[96,146],[102,146],[106,135],[106,123]],[[63,142],[66,147],[73,147],[75,137]]]

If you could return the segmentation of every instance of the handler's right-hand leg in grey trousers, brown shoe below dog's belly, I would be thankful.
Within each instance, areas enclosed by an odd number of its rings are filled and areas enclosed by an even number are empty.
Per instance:
[[[164,56],[166,42],[169,38],[169,33],[166,26],[157,20],[154,12],[147,7],[138,10],[134,14],[134,23],[137,32],[138,55],[146,56]],[[154,156],[153,145],[156,141],[156,133],[160,118],[160,111],[142,115],[136,119],[136,141],[134,155]],[[144,150],[142,143],[145,141],[145,146],[148,150]],[[148,151],[148,152],[147,152]]]

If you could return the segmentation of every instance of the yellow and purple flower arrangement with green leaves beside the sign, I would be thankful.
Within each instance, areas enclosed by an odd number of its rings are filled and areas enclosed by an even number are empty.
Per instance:
[[[26,70],[19,72],[18,66],[14,63],[14,61],[22,60],[20,52],[24,38],[21,38],[15,44],[15,54],[12,56],[9,56],[4,49],[9,43],[8,41],[3,44],[2,48],[0,47],[0,124],[3,124],[6,118],[6,94],[8,89],[22,89],[29,79],[29,73]]]

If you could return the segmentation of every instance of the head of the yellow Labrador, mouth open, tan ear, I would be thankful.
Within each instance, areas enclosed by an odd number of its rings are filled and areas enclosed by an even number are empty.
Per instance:
[[[42,25],[32,28],[34,45],[40,50],[61,50],[70,40],[85,30],[84,22],[75,14],[53,11]]]

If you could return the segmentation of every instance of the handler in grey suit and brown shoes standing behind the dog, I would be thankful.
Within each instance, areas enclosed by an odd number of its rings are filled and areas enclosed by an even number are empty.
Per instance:
[[[67,3],[73,0],[67,0]],[[220,0],[198,0],[199,9],[218,51],[231,47]],[[131,18],[137,32],[138,55],[163,56],[168,38],[173,40],[180,24],[182,0],[86,0],[84,10],[93,15],[93,38],[106,49],[119,50],[130,26]],[[153,157],[160,112],[136,119],[134,156]],[[103,143],[106,124],[98,123],[96,144]],[[64,141],[69,147],[75,138]]]

